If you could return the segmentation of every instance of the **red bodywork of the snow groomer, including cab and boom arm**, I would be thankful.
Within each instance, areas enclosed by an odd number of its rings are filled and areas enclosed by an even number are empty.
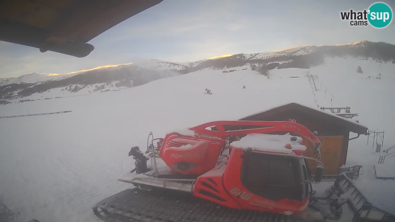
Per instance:
[[[212,126],[216,131],[207,130]],[[246,129],[225,130],[228,126]],[[306,209],[309,188],[303,151],[248,151],[231,146],[225,160],[218,161],[218,156],[228,148],[225,143],[230,136],[273,132],[296,133],[319,149],[320,140],[307,128],[293,122],[216,121],[190,130],[194,136],[167,134],[160,157],[177,173],[198,175],[192,189],[194,196],[235,209],[286,214]]]

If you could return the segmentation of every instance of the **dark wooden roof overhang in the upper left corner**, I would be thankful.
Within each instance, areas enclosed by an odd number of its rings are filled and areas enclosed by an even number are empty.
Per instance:
[[[163,0],[4,0],[0,40],[85,57],[87,42]]]

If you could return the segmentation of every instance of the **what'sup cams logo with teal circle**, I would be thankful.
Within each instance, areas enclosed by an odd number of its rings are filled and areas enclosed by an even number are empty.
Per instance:
[[[351,26],[367,26],[368,22],[376,28],[384,28],[391,23],[392,10],[387,4],[377,2],[372,4],[368,10],[342,11],[342,20],[350,20]]]

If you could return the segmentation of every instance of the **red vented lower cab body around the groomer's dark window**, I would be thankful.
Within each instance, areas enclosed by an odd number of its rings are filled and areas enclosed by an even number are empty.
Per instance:
[[[270,188],[265,187],[270,197],[263,197],[243,185],[243,149],[232,150],[228,162],[222,169],[209,171],[196,179],[193,194],[199,198],[234,209],[251,209],[276,213],[302,213],[309,202],[307,184],[305,188]],[[256,184],[259,186],[260,184]],[[255,187],[257,188],[257,187]],[[258,189],[260,189],[258,187]],[[270,189],[270,190],[268,190]],[[293,192],[290,198],[278,198],[281,192]],[[291,198],[300,196],[300,198]],[[275,197],[275,198],[274,198]]]

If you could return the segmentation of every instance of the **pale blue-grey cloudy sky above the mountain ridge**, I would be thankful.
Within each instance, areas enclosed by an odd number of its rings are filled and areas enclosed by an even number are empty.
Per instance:
[[[0,77],[68,73],[149,58],[193,62],[300,45],[395,44],[394,21],[377,29],[340,19],[340,11],[362,11],[375,2],[164,0],[89,41],[95,49],[84,58],[0,41]],[[381,2],[395,11],[395,2]]]

